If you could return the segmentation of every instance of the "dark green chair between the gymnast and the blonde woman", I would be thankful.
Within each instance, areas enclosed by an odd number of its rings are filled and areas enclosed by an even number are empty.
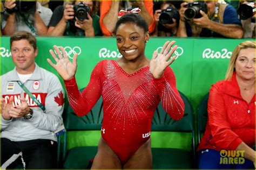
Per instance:
[[[153,148],[153,169],[192,169],[195,167],[194,111],[190,101],[181,93],[185,104],[184,117],[174,121],[159,103],[152,120],[152,131],[191,133],[190,151],[181,148]]]

